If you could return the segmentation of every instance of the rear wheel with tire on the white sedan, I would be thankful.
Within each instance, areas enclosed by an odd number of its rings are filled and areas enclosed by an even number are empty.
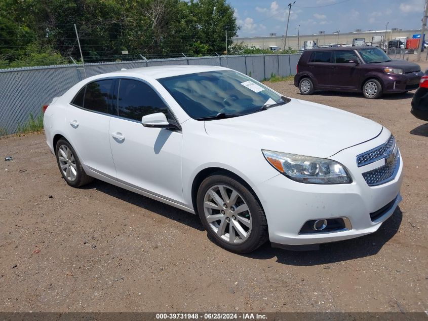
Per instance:
[[[62,138],[58,140],[55,156],[59,171],[68,185],[81,187],[94,180],[85,173],[79,157],[77,157],[76,152],[67,140]]]

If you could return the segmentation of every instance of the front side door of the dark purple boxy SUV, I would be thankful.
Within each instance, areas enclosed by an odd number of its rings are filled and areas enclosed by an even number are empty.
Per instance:
[[[333,52],[331,89],[358,90],[360,86],[359,59],[354,50]]]

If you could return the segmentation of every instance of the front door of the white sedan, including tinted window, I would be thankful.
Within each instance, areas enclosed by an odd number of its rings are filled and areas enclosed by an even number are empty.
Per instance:
[[[117,90],[109,133],[118,181],[182,203],[182,133],[141,123],[153,113],[172,117],[167,105],[142,81],[121,79]]]

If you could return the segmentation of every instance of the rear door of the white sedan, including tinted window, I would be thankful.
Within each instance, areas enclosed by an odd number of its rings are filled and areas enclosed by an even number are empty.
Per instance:
[[[67,109],[70,144],[90,169],[114,178],[108,127],[114,79],[92,82],[83,87]]]

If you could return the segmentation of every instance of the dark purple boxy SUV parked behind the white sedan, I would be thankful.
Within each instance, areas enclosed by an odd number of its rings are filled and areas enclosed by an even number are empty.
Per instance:
[[[392,60],[376,47],[305,50],[297,64],[294,86],[302,95],[315,90],[363,92],[366,98],[416,89],[423,73],[416,63]]]

